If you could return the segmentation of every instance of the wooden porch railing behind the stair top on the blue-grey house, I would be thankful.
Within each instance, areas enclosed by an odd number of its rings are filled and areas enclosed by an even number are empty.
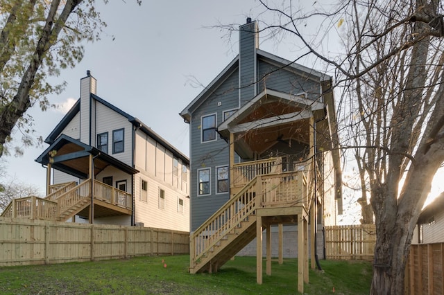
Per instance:
[[[231,187],[245,186],[258,175],[268,175],[282,171],[281,158],[235,163],[230,173]]]

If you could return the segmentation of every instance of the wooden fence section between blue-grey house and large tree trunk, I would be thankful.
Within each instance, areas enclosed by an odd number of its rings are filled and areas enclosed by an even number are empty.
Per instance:
[[[373,260],[375,224],[325,226],[325,255],[336,260]]]

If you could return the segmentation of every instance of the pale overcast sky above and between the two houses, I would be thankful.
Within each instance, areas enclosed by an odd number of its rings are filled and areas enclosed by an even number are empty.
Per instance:
[[[252,17],[259,21],[259,29],[264,28],[262,21],[268,21],[262,13],[264,8],[255,0],[144,0],[142,6],[135,0],[112,0],[107,5],[97,2],[108,27],[101,41],[85,44],[85,57],[75,69],[64,70],[53,79],[67,82],[62,94],[49,97],[60,108],[42,112],[33,107],[28,111],[35,120],[35,136],[49,135],[79,98],[80,78],[90,70],[97,79],[99,97],[139,118],[189,155],[189,125],[178,113],[202,91],[196,81],[207,85],[238,52],[237,32],[228,39],[227,30],[214,26],[237,27],[245,24],[246,17]],[[319,1],[311,2],[306,4],[319,5]],[[300,44],[294,38],[276,42],[260,36],[259,48],[265,51],[287,60],[301,55]],[[328,46],[339,47],[336,43],[331,40]],[[305,62],[305,66],[323,71],[321,64]],[[7,161],[3,163],[6,177],[32,184],[44,195],[46,170],[34,160],[46,147],[45,143],[40,148],[26,148],[20,158],[2,157]]]

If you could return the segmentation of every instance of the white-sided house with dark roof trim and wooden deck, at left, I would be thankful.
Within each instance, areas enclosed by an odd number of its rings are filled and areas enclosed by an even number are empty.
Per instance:
[[[35,161],[46,166],[47,196],[17,199],[3,215],[189,231],[188,157],[97,96],[89,71],[45,142]]]

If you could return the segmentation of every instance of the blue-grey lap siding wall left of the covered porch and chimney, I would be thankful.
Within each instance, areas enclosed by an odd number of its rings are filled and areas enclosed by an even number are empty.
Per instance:
[[[193,113],[190,123],[191,129],[191,231],[197,229],[215,211],[230,199],[227,194],[216,195],[216,166],[229,165],[228,143],[216,134],[216,141],[200,143],[200,118],[203,115],[216,113],[217,125],[223,120],[223,111],[237,109],[239,107],[238,95],[238,73],[233,73],[225,80],[221,87],[216,89],[212,95],[205,100],[205,103]],[[218,102],[221,105],[218,106]],[[197,170],[200,168],[211,168],[210,189],[211,195],[198,196],[198,176]]]

